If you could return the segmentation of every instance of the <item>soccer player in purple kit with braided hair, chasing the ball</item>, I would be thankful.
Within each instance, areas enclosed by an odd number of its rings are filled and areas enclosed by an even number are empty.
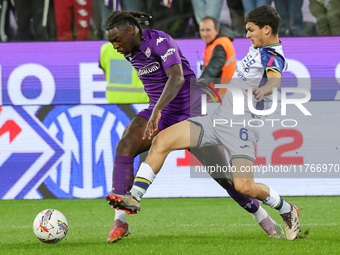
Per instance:
[[[192,115],[200,115],[200,98],[204,92],[196,82],[190,83],[190,80],[196,79],[194,72],[171,36],[158,30],[142,29],[141,20],[148,18],[151,17],[146,13],[117,11],[113,12],[106,22],[109,42],[134,66],[150,98],[149,107],[136,115],[117,144],[112,177],[112,189],[115,194],[124,195],[131,189],[134,180],[134,158],[149,150],[152,138],[160,130]],[[193,107],[191,102],[197,104],[197,107]],[[193,112],[190,109],[198,111]],[[192,153],[205,165],[228,164],[221,147],[209,147],[208,150],[202,148]],[[221,162],[217,162],[217,158],[220,158]],[[266,210],[256,199],[238,193],[229,176],[212,177],[240,206],[253,214],[254,219],[270,237],[284,238],[283,230]],[[110,202],[110,195],[107,200]],[[114,224],[107,241],[117,242],[130,233],[126,212],[116,209]]]

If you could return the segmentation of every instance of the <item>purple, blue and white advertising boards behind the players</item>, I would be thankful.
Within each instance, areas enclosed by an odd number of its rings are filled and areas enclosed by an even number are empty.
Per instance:
[[[257,165],[340,164],[340,37],[281,38],[289,70],[283,86],[306,88],[313,114],[296,128],[262,131]],[[204,43],[177,40],[199,73]],[[0,198],[97,198],[111,191],[115,145],[146,105],[107,105],[98,68],[103,41],[2,43],[0,47]],[[248,39],[234,41],[244,56]],[[294,94],[289,95],[294,98]],[[139,158],[135,166],[139,164]],[[191,178],[188,153],[169,155],[146,197],[214,197],[210,178]],[[258,180],[282,195],[339,195],[340,171]],[[204,176],[207,177],[207,176]],[[169,192],[171,190],[171,192]]]

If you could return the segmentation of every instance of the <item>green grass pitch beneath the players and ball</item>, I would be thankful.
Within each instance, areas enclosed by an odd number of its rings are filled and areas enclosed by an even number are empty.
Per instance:
[[[128,216],[132,235],[114,244],[106,243],[113,209],[105,199],[2,200],[0,254],[340,254],[340,197],[286,200],[300,208],[303,237],[293,242],[269,239],[230,198],[167,198],[143,199],[141,212]],[[69,222],[57,244],[40,242],[32,231],[47,208]]]

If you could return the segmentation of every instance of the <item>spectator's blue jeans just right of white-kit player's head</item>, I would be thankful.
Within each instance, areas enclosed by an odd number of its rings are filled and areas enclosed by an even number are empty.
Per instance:
[[[280,36],[304,36],[302,5],[303,0],[274,0],[281,16]]]

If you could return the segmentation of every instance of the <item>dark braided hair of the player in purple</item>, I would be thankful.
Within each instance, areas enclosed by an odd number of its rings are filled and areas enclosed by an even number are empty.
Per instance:
[[[139,33],[142,35],[142,26],[149,25],[149,20],[152,16],[145,12],[134,11],[115,11],[112,12],[106,20],[105,30],[110,30],[114,27],[121,26],[136,26],[139,28]]]

